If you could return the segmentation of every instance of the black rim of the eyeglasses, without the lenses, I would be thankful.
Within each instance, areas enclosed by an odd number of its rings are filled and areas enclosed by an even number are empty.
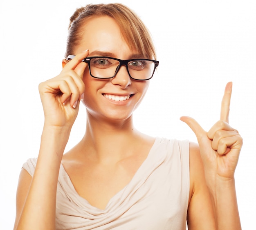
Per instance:
[[[68,55],[66,60],[70,60],[70,59],[73,59],[75,57],[75,55]],[[93,58],[110,58],[110,59],[114,59],[114,60],[117,60],[119,61],[119,66],[117,67],[116,71],[115,71],[115,74],[112,76],[112,77],[108,77],[108,78],[99,78],[99,77],[95,77],[92,75],[91,73],[91,67],[90,67],[90,60],[93,59]],[[129,73],[129,68],[128,68],[128,63],[131,62],[131,61],[137,61],[137,60],[146,60],[146,61],[152,61],[153,63],[155,63],[155,67],[154,67],[154,70],[153,70],[153,73],[152,75],[147,78],[147,79],[136,79],[136,78],[133,78],[130,73]],[[130,76],[130,78],[134,79],[134,80],[149,80],[153,77],[154,73],[155,73],[155,69],[157,68],[157,66],[159,65],[159,61],[157,60],[151,60],[151,59],[146,59],[146,58],[133,58],[133,59],[128,59],[128,60],[121,60],[121,59],[118,59],[118,58],[111,58],[111,57],[105,57],[105,56],[95,56],[95,57],[87,57],[87,58],[84,58],[83,60],[81,60],[82,62],[85,62],[88,64],[89,66],[89,72],[90,72],[90,75],[93,77],[93,78],[98,78],[98,79],[109,79],[109,78],[114,78],[119,69],[121,68],[122,65],[125,65],[126,66],[126,70]]]

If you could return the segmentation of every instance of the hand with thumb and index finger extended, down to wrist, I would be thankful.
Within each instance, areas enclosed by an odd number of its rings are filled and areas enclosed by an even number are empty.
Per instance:
[[[229,106],[232,92],[232,83],[226,85],[222,99],[220,121],[206,132],[193,119],[187,116],[181,117],[195,133],[200,148],[200,154],[204,164],[207,178],[234,179],[234,172],[238,163],[243,139],[237,130],[229,125]]]

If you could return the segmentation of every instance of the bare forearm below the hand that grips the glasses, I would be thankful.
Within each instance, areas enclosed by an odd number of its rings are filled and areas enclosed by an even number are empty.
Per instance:
[[[69,137],[67,130],[45,127],[38,160],[17,229],[55,229],[58,172]]]

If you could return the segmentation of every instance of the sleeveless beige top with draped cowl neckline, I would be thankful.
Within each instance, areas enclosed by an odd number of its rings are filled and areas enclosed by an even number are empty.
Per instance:
[[[34,174],[36,158],[23,168]],[[57,230],[186,230],[189,201],[189,141],[156,138],[134,177],[105,210],[79,196],[60,167],[56,200]]]

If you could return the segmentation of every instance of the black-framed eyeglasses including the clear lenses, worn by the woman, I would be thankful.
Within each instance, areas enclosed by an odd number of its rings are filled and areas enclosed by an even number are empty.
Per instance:
[[[67,60],[73,59],[74,55],[67,56]],[[159,61],[135,58],[121,60],[110,57],[88,57],[82,60],[88,63],[90,75],[94,78],[113,78],[117,75],[122,65],[126,66],[130,78],[135,80],[149,80],[153,77]]]

